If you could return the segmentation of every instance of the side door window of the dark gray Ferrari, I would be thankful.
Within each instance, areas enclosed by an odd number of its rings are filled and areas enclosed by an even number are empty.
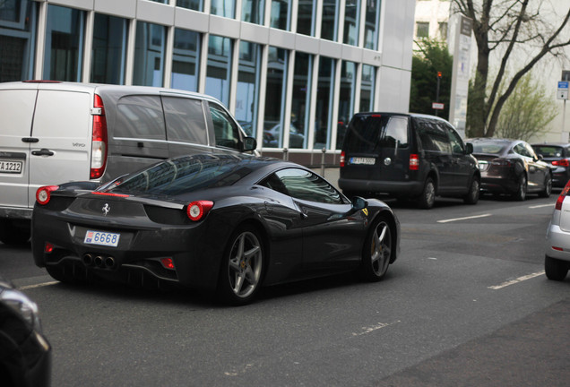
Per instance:
[[[341,194],[314,173],[300,168],[287,168],[275,172],[289,196],[309,202],[341,204]]]

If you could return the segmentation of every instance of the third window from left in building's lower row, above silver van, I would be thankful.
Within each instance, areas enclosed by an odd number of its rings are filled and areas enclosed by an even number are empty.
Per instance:
[[[95,14],[91,82],[125,84],[127,20]]]

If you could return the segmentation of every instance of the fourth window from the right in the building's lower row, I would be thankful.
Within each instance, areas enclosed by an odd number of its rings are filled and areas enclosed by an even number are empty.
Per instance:
[[[297,52],[291,104],[291,125],[289,126],[289,148],[307,148],[310,126],[311,74],[314,56]]]

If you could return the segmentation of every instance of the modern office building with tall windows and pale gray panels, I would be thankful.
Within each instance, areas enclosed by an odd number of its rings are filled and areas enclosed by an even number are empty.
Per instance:
[[[414,0],[3,0],[0,82],[210,94],[263,154],[338,159],[358,111],[407,111]]]

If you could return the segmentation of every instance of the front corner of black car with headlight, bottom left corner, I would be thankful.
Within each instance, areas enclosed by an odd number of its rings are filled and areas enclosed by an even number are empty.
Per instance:
[[[2,276],[0,381],[6,387],[43,387],[51,382],[51,346],[41,330],[38,305]]]

